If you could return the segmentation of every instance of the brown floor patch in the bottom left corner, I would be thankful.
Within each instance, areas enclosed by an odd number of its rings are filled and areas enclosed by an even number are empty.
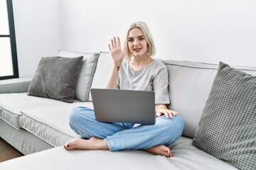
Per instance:
[[[11,147],[11,145],[0,137],[0,162],[21,156],[23,156],[21,152],[18,152],[14,147]]]

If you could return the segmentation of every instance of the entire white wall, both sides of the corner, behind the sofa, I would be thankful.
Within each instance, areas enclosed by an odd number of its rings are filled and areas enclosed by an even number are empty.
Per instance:
[[[107,51],[134,21],[149,25],[156,58],[255,66],[255,0],[13,0],[20,77],[58,49]]]

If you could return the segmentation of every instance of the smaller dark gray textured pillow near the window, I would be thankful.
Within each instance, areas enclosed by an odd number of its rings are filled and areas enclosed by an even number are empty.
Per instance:
[[[33,76],[28,95],[73,103],[81,57],[43,57]]]

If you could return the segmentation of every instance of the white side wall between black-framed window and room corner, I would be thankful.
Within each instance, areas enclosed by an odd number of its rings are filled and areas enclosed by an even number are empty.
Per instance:
[[[19,77],[32,77],[41,57],[60,48],[58,0],[13,0]]]

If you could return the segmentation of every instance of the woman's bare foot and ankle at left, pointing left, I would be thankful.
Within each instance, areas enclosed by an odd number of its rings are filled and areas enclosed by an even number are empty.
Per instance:
[[[64,148],[67,150],[82,149],[82,150],[108,150],[107,143],[97,137],[91,137],[90,140],[82,140],[74,138],[65,143]]]

